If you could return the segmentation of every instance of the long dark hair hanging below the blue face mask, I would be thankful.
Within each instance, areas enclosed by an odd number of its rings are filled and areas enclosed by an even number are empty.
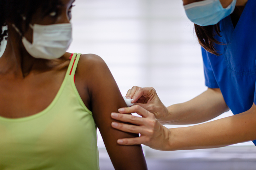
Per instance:
[[[220,36],[220,23],[209,26],[199,26],[194,24],[194,30],[196,32],[199,44],[210,53],[213,53],[217,56],[220,54],[219,51],[215,48],[215,44],[222,44],[217,41],[214,36],[216,34]]]

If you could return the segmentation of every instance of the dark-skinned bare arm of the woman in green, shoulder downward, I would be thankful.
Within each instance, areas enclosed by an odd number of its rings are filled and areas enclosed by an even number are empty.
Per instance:
[[[104,140],[115,169],[146,170],[146,161],[141,145],[122,146],[117,144],[119,138],[138,137],[111,127],[111,112],[120,107],[127,107],[109,68],[99,56],[81,55],[76,70],[76,87],[85,103],[93,113],[101,136]]]

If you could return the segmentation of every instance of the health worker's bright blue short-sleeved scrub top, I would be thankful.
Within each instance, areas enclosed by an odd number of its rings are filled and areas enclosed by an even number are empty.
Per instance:
[[[220,88],[227,106],[238,114],[256,103],[256,0],[248,0],[235,28],[229,15],[220,21],[220,30],[221,37],[215,38],[224,44],[216,45],[222,55],[202,48],[205,85]]]

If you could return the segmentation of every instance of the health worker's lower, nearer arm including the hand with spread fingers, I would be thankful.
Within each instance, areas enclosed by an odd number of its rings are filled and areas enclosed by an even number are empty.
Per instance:
[[[256,139],[256,106],[246,112],[190,127],[167,129],[152,113],[140,106],[121,108],[120,113],[112,113],[112,118],[135,125],[112,122],[112,127],[125,132],[140,133],[141,136],[119,139],[122,145],[144,144],[153,149],[174,151],[206,149],[227,146]],[[127,113],[136,111],[142,116]]]

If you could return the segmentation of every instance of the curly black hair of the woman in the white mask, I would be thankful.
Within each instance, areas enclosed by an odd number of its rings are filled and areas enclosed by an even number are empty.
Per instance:
[[[46,16],[56,11],[58,5],[62,5],[60,0],[0,0],[0,45],[4,38],[7,39],[8,30],[3,31],[2,28],[7,22],[15,24],[23,34],[22,17],[26,17],[25,28],[28,29],[31,17],[37,10],[41,10],[43,16]]]

